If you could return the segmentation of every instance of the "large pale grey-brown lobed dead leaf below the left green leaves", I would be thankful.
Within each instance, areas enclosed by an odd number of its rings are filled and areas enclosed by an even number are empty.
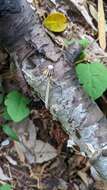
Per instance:
[[[31,120],[26,119],[21,123],[14,124],[13,127],[21,139],[21,143],[15,142],[15,149],[22,162],[25,162],[26,158],[30,164],[43,163],[57,156],[54,147],[36,140],[36,127]],[[26,135],[28,138],[26,138]]]

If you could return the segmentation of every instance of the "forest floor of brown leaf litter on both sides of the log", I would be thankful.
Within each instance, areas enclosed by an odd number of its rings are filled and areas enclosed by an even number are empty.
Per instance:
[[[67,39],[68,45],[72,37],[79,39],[83,34],[98,41],[97,32],[93,32],[93,28],[97,27],[97,21],[93,18],[95,12],[91,10],[88,15],[89,10],[86,9],[86,12],[81,13],[79,6],[77,9],[71,8],[71,2],[35,1],[31,6],[33,9],[36,6],[41,22],[54,9],[66,15],[70,24],[63,35],[46,31],[60,48],[64,45],[62,39]],[[97,10],[95,1],[92,6]],[[106,14],[106,3],[104,7]],[[80,152],[78,146],[72,146],[73,142],[68,141],[68,134],[58,121],[53,120],[45,103],[34,96],[27,83],[20,80],[19,72],[13,73],[13,70],[14,64],[9,54],[6,50],[0,50],[0,125],[8,124],[20,136],[20,142],[15,141],[13,131],[0,128],[0,189],[107,190],[106,182],[92,167],[88,156]],[[19,123],[11,121],[6,112],[4,116],[4,100],[13,90],[30,100],[29,117]],[[97,103],[106,115],[106,93],[105,99],[100,97]]]

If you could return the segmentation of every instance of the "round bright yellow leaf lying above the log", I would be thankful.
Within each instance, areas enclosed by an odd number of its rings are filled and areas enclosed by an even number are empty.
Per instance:
[[[45,18],[44,26],[52,32],[63,32],[67,27],[67,17],[60,12],[51,13]]]

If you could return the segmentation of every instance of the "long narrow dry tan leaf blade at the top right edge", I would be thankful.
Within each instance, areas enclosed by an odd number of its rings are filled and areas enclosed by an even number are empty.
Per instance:
[[[98,32],[99,43],[102,49],[106,48],[106,29],[103,0],[98,0]]]

